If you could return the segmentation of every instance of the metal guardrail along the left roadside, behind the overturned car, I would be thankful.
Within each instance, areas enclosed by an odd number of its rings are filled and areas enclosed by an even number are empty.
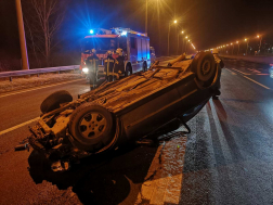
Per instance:
[[[69,65],[69,66],[61,66],[61,67],[44,67],[44,68],[37,68],[37,69],[23,69],[23,71],[14,71],[14,72],[1,72],[0,78],[10,78],[12,81],[12,77],[16,76],[27,76],[27,75],[39,75],[46,73],[55,73],[55,72],[65,72],[65,71],[73,71],[79,69],[79,65]]]

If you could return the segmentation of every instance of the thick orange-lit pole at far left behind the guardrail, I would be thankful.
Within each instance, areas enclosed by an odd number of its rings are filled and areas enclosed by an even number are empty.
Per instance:
[[[21,55],[22,55],[22,62],[23,62],[23,69],[29,69],[21,0],[15,0],[15,2],[16,2],[16,11],[17,11],[17,22],[18,22],[18,33],[20,33],[20,44],[21,44]]]

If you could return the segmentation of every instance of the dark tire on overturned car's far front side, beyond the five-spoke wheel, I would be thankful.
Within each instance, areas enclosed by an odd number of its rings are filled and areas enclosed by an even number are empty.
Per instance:
[[[72,94],[66,90],[60,90],[50,94],[40,106],[41,112],[49,113],[60,107],[62,103],[68,103],[73,101]]]

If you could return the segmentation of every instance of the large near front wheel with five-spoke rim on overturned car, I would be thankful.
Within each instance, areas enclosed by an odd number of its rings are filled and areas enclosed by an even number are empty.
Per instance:
[[[79,150],[99,152],[113,141],[114,125],[114,117],[105,107],[92,102],[84,103],[70,116],[68,124],[70,141]]]

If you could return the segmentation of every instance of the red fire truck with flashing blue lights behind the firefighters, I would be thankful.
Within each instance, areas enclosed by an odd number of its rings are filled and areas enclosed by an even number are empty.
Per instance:
[[[89,69],[86,66],[86,60],[90,56],[91,51],[96,51],[99,57],[99,71],[101,74],[104,71],[104,59],[107,57],[107,51],[113,51],[113,57],[118,55],[115,51],[120,48],[123,51],[125,73],[129,76],[136,72],[145,72],[151,65],[150,38],[142,33],[134,31],[130,28],[110,28],[110,29],[91,29],[90,35],[86,36],[81,42],[81,68],[83,73]],[[98,75],[96,73],[96,75]]]

